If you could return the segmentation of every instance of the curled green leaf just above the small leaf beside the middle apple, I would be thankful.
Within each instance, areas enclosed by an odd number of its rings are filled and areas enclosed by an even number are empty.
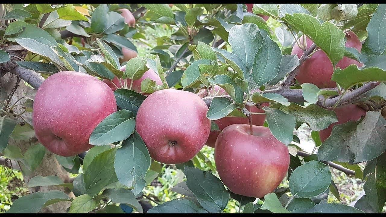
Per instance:
[[[222,87],[234,100],[235,103],[242,105],[244,91],[237,85],[232,78],[227,75],[216,75],[215,78],[208,79],[211,83]]]

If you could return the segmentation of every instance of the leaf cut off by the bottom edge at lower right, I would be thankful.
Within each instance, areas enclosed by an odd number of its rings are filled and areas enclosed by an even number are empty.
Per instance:
[[[334,213],[334,214],[354,214],[364,213],[362,210],[354,207],[349,207],[342,203],[318,203],[312,209],[309,209],[307,213]]]

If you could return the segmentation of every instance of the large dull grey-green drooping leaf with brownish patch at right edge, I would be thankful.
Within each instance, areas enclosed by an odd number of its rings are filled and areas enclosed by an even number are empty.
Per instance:
[[[360,122],[337,124],[318,149],[318,159],[359,163],[370,161],[386,150],[386,120],[380,112],[369,111]]]

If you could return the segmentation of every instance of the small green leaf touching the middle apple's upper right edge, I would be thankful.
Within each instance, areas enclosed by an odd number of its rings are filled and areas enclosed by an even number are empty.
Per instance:
[[[230,101],[226,97],[215,97],[210,103],[209,110],[207,112],[207,118],[209,120],[217,120],[227,116],[233,110],[239,108],[236,103]]]

